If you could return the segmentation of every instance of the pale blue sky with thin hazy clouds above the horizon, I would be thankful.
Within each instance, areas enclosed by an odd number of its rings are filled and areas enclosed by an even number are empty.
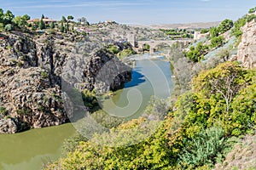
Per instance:
[[[90,22],[115,20],[128,24],[173,24],[236,20],[256,6],[255,0],[0,0],[15,15],[84,16]]]

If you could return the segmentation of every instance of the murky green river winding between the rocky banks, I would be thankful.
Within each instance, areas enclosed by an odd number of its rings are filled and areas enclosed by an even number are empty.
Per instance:
[[[131,82],[102,103],[108,114],[119,117],[140,116],[152,95],[166,99],[172,93],[171,65],[164,57],[148,54],[133,56]],[[61,156],[64,140],[76,132],[71,123],[32,129],[24,133],[0,135],[0,169],[37,170]]]

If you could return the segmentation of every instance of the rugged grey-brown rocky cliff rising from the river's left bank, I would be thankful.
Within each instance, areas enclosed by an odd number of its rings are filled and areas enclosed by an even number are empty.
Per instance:
[[[75,77],[76,84],[73,78],[67,79],[74,88],[93,90],[98,71],[108,61],[118,60],[100,50],[99,42],[75,35],[4,32],[0,37],[0,133],[68,122],[62,76]],[[130,76],[128,71],[121,72],[108,86],[116,88]]]

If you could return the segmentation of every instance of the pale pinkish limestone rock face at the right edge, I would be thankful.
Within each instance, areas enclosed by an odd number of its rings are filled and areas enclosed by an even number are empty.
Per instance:
[[[237,60],[247,68],[256,67],[256,20],[241,28],[242,37],[238,46]]]

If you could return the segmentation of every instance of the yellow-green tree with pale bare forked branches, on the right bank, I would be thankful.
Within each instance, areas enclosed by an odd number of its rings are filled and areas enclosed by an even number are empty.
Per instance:
[[[226,62],[201,72],[192,81],[193,89],[208,99],[219,95],[226,103],[226,112],[229,112],[232,99],[245,85],[245,72],[237,63]]]

